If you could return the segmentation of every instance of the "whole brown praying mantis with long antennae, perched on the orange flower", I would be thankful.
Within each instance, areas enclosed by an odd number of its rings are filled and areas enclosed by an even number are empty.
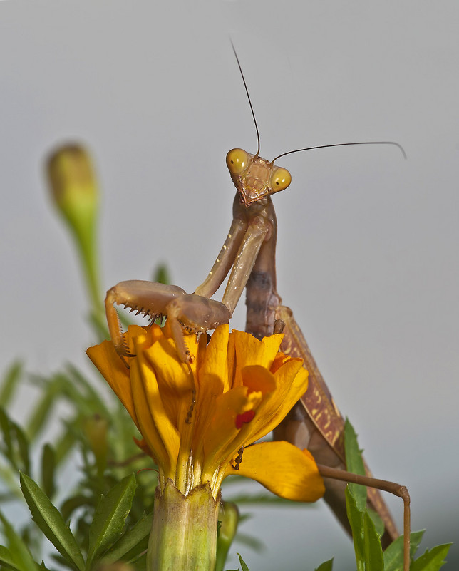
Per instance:
[[[235,51],[234,55],[237,59]],[[238,59],[237,63],[242,74]],[[114,307],[114,304],[124,304],[125,307],[136,309],[152,318],[167,315],[180,358],[184,362],[188,361],[190,356],[183,340],[182,327],[207,331],[228,323],[244,288],[247,287],[246,330],[262,339],[263,336],[271,335],[275,327],[283,329],[282,351],[304,359],[304,366],[309,371],[308,390],[277,428],[274,437],[292,442],[299,448],[308,448],[313,453],[321,474],[326,478],[325,499],[348,530],[343,482],[354,481],[372,486],[368,491],[368,502],[381,515],[386,526],[383,545],[388,545],[398,537],[398,532],[386,504],[378,490],[374,488],[390,491],[402,497],[406,506],[404,567],[408,571],[408,491],[395,483],[374,480],[368,470],[366,477],[345,472],[344,420],[316,366],[301,329],[296,324],[291,310],[282,306],[282,299],[276,289],[277,221],[270,195],[287,188],[291,176],[286,169],[274,165],[274,161],[289,153],[321,147],[290,151],[271,161],[261,158],[259,132],[243,75],[242,80],[257,129],[258,150],[255,155],[242,149],[232,149],[227,154],[227,166],[237,193],[233,202],[232,225],[222,250],[207,278],[196,288],[194,294],[186,294],[177,286],[137,280],[120,282],[108,290],[105,308],[113,344],[120,356],[128,355]],[[322,147],[362,144],[396,145],[404,155],[403,148],[392,141],[341,143],[322,145]],[[210,299],[230,270],[222,302]]]

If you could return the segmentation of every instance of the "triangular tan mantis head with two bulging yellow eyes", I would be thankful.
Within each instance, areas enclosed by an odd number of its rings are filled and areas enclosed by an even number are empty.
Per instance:
[[[284,190],[292,182],[292,175],[286,168],[277,167],[269,160],[251,155],[243,149],[229,151],[227,167],[241,202],[246,206]]]

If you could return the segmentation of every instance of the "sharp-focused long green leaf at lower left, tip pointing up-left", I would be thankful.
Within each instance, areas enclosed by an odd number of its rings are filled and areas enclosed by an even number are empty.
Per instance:
[[[75,537],[64,522],[61,513],[54,507],[48,496],[39,488],[38,484],[21,473],[21,490],[31,510],[33,520],[38,528],[48,537],[61,555],[73,563],[81,571],[84,569],[83,555],[81,555]]]

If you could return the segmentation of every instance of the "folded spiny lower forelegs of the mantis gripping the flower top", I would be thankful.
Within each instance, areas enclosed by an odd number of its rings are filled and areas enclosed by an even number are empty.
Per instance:
[[[107,292],[105,313],[110,337],[116,352],[121,357],[133,354],[125,344],[115,304],[129,307],[131,311],[148,316],[152,321],[158,317],[167,317],[178,354],[184,363],[191,361],[190,351],[183,339],[184,327],[197,333],[205,332],[207,329],[215,329],[221,324],[228,323],[231,317],[225,304],[200,295],[187,294],[184,289],[175,285],[138,279],[120,282]]]

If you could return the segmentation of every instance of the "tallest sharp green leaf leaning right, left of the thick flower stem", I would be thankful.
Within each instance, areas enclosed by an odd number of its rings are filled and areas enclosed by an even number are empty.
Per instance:
[[[89,530],[87,570],[91,569],[95,558],[108,550],[108,547],[123,533],[135,488],[137,488],[135,475],[131,474],[100,498]]]

